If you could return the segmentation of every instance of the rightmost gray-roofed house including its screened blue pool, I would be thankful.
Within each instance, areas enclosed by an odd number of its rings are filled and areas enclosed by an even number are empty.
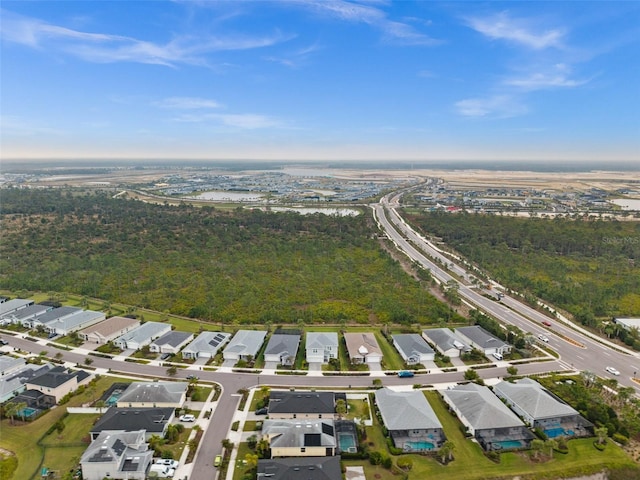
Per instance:
[[[591,433],[591,422],[535,380],[522,378],[514,383],[502,381],[493,387],[493,392],[526,424],[539,428],[548,437],[585,436]]]

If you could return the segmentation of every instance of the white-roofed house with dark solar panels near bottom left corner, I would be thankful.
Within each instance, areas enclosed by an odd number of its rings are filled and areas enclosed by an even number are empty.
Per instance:
[[[105,431],[98,435],[82,454],[82,478],[145,480],[152,460],[153,450],[149,449],[143,430]]]

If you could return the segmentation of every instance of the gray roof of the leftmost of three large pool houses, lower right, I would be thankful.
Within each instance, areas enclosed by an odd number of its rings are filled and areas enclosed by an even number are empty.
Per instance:
[[[388,430],[442,428],[421,391],[376,390],[376,405]]]

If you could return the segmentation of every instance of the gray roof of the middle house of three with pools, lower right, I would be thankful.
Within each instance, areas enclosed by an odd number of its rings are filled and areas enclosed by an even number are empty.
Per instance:
[[[442,395],[451,400],[475,430],[524,425],[488,387],[475,383],[456,385]]]

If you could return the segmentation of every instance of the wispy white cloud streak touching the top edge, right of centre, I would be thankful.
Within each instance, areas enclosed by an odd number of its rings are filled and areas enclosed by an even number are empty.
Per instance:
[[[429,35],[417,31],[413,26],[388,18],[387,13],[377,5],[386,3],[366,2],[357,3],[346,0],[290,0],[316,12],[329,15],[342,21],[364,23],[379,29],[385,40],[403,45],[437,45],[442,43]],[[376,6],[373,6],[376,5]]]

